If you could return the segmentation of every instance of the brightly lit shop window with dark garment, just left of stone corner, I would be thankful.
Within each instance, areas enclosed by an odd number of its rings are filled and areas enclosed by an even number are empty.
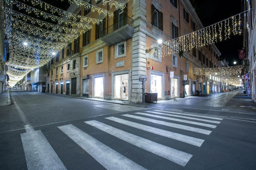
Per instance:
[[[115,75],[115,99],[128,100],[128,74]]]

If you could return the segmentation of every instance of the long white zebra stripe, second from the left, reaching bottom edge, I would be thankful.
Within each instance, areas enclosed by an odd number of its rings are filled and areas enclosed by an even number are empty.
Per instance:
[[[145,169],[72,124],[58,128],[106,169]]]

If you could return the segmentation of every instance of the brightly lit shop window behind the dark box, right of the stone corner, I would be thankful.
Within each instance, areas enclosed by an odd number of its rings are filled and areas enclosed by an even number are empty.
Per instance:
[[[162,98],[162,76],[151,74],[150,92],[157,93],[157,98]]]

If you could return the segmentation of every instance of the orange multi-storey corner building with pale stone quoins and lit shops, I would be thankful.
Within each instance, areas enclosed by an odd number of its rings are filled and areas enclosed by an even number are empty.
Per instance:
[[[203,28],[188,0],[119,2],[126,4],[124,10],[90,1],[114,17],[70,6],[68,11],[102,22],[48,63],[49,93],[141,103],[145,93],[167,100],[196,95],[196,90],[220,92],[216,78],[196,75],[196,67],[218,67],[220,51],[214,44],[165,56],[154,48],[159,39],[164,42]],[[183,86],[184,75],[189,84]]]

